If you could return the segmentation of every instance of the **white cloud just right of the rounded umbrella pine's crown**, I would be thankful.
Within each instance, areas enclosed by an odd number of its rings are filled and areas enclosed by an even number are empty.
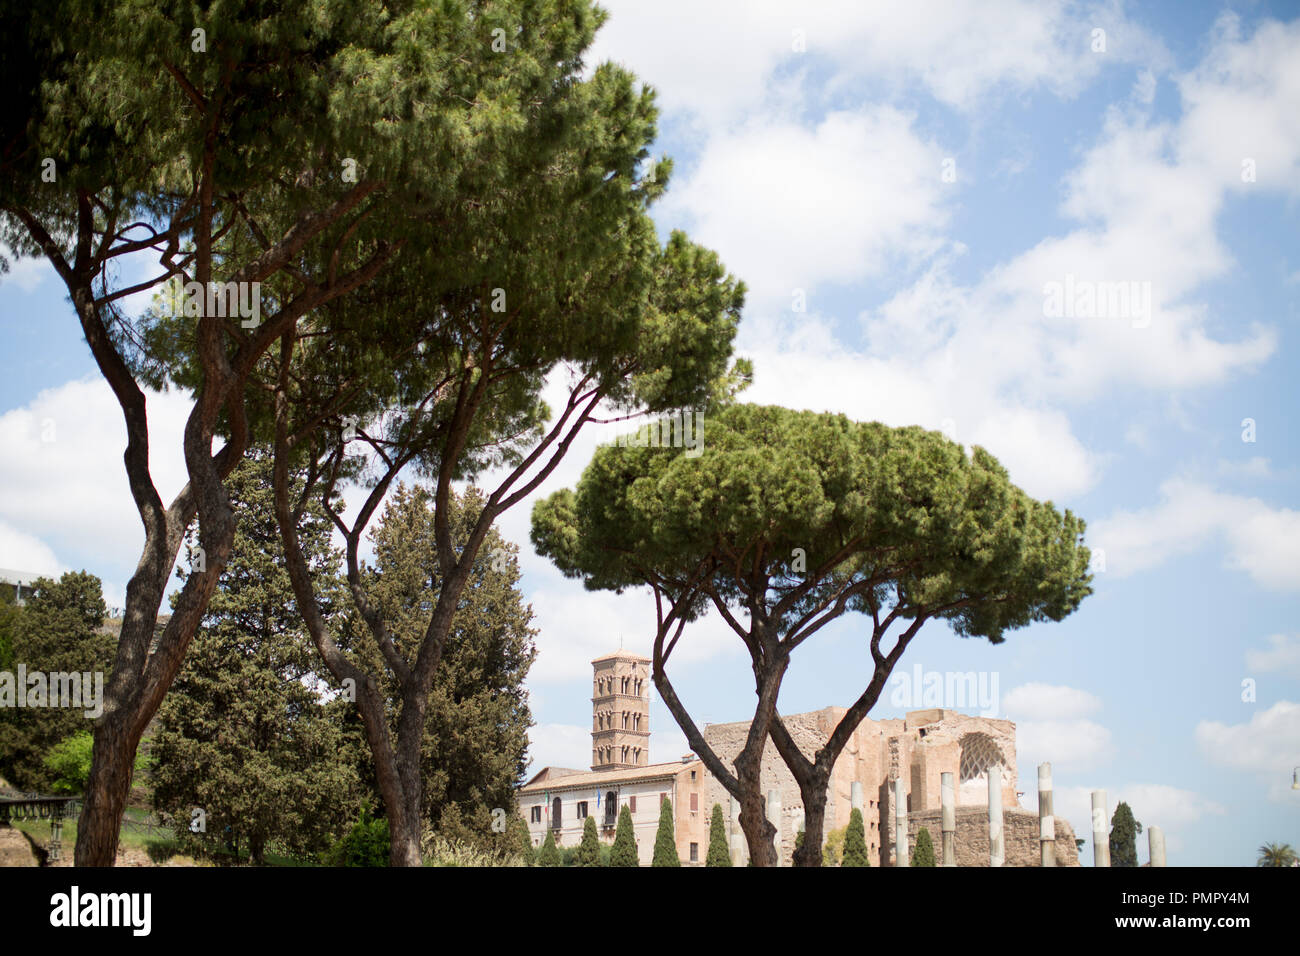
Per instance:
[[[1089,544],[1105,551],[1108,574],[1156,567],[1214,541],[1225,567],[1265,588],[1300,588],[1300,511],[1183,479],[1166,481],[1160,493],[1158,505],[1118,511],[1089,529]]]

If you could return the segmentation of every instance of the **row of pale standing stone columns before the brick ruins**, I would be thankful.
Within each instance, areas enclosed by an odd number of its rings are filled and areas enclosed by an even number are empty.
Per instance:
[[[957,805],[953,788],[953,775],[939,775],[939,792],[942,829],[940,866],[957,865]],[[907,866],[907,790],[900,777],[893,782],[894,805],[894,866]],[[853,782],[849,797],[852,809],[862,812],[862,784]],[[829,805],[827,808],[831,809]],[[781,795],[776,790],[767,791],[767,818],[777,832],[781,832]],[[828,813],[829,818],[829,813]],[[866,814],[863,814],[866,818]],[[1106,818],[1106,791],[1092,791],[1092,862],[1093,866],[1110,866],[1110,838]],[[1150,848],[1150,865],[1165,866],[1165,832],[1158,826],[1147,827]],[[1056,816],[1052,808],[1052,765],[1039,765],[1039,862],[1043,866],[1056,866]],[[732,864],[744,866],[748,861],[745,836],[740,829],[740,804],[731,801],[731,857]],[[1002,834],[1002,769],[992,766],[988,770],[988,864],[1001,866],[1006,861],[1006,843]]]

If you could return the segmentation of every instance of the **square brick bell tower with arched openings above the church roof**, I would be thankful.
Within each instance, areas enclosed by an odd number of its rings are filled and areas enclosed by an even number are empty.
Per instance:
[[[627,650],[592,661],[592,769],[650,762],[650,658]]]

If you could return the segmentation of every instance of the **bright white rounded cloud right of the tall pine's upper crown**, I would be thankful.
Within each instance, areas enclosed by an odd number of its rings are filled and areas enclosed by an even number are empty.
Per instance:
[[[789,307],[794,289],[936,251],[942,159],[890,107],[829,113],[814,129],[764,118],[711,138],[663,206],[757,295]]]

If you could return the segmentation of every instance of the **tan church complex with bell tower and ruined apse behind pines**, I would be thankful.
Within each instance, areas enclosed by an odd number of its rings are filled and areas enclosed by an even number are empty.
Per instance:
[[[627,650],[592,662],[592,767],[543,767],[519,791],[519,808],[534,845],[546,830],[555,843],[575,847],[586,817],[594,817],[606,843],[614,842],[619,810],[632,814],[642,864],[654,853],[659,804],[672,803],[677,857],[684,866],[702,866],[708,849],[714,804],[727,818],[733,864],[746,862],[738,808],[694,754],[650,763],[650,659]],[[824,708],[784,717],[790,735],[811,756],[829,736],[844,708]],[[749,722],[712,723],[703,730],[714,752],[731,763],[744,745]],[[940,844],[940,774],[957,782],[957,862],[988,865],[988,773],[1001,767],[1004,834],[1008,866],[1039,865],[1039,818],[1019,808],[1015,767],[1015,724],[956,710],[913,710],[901,719],[863,721],[836,762],[827,799],[826,832],[846,826],[859,806],[872,866],[894,865],[893,782],[907,792],[909,844],[920,827]],[[768,817],[777,827],[777,852],[789,865],[803,822],[802,799],[793,775],[768,741],[763,752],[763,790]],[[1057,865],[1076,866],[1074,832],[1057,818]]]

